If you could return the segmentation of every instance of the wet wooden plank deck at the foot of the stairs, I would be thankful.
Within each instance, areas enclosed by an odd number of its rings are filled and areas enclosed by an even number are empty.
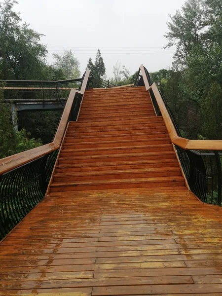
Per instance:
[[[185,188],[50,193],[0,244],[0,295],[222,295],[222,209]]]

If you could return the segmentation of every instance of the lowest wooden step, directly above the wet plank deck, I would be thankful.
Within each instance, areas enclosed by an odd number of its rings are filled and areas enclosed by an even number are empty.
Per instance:
[[[185,180],[181,176],[156,177],[120,180],[92,180],[78,182],[52,183],[50,192],[78,191],[78,190],[101,190],[119,188],[158,188],[184,186]]]

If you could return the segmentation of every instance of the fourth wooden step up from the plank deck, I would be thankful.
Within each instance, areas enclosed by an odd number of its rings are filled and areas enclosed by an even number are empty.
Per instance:
[[[102,155],[76,155],[76,156],[65,156],[59,157],[59,164],[72,164],[72,163],[95,163],[95,162],[107,162],[110,161],[147,161],[154,159],[175,159],[175,152],[172,151],[161,151],[161,152],[133,152],[133,153],[118,153],[118,154],[102,154]]]

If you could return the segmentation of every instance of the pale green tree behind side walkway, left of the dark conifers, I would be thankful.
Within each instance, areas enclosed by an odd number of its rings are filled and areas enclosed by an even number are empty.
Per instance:
[[[56,62],[54,66],[61,69],[66,79],[78,78],[80,76],[79,61],[74,57],[72,50],[64,50],[62,55],[53,54]]]

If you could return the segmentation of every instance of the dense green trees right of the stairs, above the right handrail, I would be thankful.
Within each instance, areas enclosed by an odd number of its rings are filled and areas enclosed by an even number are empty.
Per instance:
[[[166,38],[177,47],[164,93],[187,137],[222,138],[222,2],[187,0],[168,22]],[[176,70],[178,72],[178,70]],[[167,90],[167,88],[170,88]],[[186,108],[195,106],[189,116]],[[182,113],[181,113],[182,111]],[[183,117],[187,118],[183,122]],[[182,120],[181,120],[182,119]]]

